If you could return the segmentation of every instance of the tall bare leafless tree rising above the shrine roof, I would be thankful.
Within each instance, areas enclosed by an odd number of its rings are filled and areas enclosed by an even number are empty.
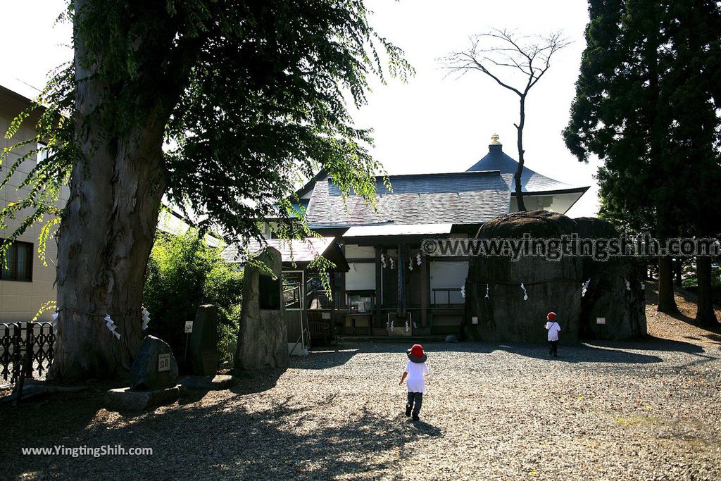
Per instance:
[[[471,45],[466,50],[454,52],[443,61],[446,68],[460,72],[481,71],[501,87],[518,95],[521,118],[516,127],[518,133],[518,170],[516,171],[516,199],[518,210],[525,211],[521,174],[523,173],[523,127],[526,125],[526,97],[551,66],[551,57],[570,44],[562,32],[545,37],[518,35],[511,30],[492,29],[490,32],[469,37]],[[508,69],[511,69],[508,73]],[[503,72],[503,74],[501,74]],[[520,87],[514,87],[514,84]]]

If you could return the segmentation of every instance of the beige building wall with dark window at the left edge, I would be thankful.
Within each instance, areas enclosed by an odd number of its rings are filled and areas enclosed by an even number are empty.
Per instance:
[[[35,135],[35,131],[32,130],[32,121],[27,120],[23,124],[19,131],[12,138],[5,138],[6,133],[12,119],[25,107],[29,105],[27,102],[23,102],[22,98],[18,96],[6,94],[6,92],[0,92],[0,149],[13,146],[19,141],[25,141],[32,138]],[[14,163],[15,160],[19,159],[20,156],[27,154],[31,150],[30,146],[25,146],[22,149],[9,153],[7,158],[0,167],[0,176],[5,177],[9,167]],[[22,180],[25,180],[27,174],[35,167],[35,159],[26,160],[19,169],[14,172],[9,185],[0,190],[0,205],[2,208],[6,207],[8,203],[17,202],[20,198],[25,197],[28,192],[28,188],[25,187],[21,190],[18,189],[19,184]],[[64,205],[68,199],[68,189],[64,187],[61,191],[61,200],[58,203]],[[8,229],[0,231],[0,237],[7,237],[14,229],[20,224],[20,220],[9,220]],[[0,280],[0,322],[20,322],[28,321],[35,317],[40,306],[46,301],[56,299],[56,291],[54,287],[56,278],[55,260],[58,254],[58,247],[54,237],[48,239],[46,262],[47,266],[43,265],[42,260],[37,256],[37,245],[38,235],[42,224],[32,226],[30,229],[25,231],[25,234],[18,238],[22,242],[30,242],[33,247],[32,255],[32,281],[3,281]],[[52,312],[46,311],[40,316],[41,320],[50,320]]]

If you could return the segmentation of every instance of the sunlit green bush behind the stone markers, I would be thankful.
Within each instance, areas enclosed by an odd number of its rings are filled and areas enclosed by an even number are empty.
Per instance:
[[[143,304],[150,311],[149,334],[165,340],[182,365],[184,327],[202,304],[218,309],[218,350],[232,361],[240,318],[243,274],[223,262],[198,231],[175,236],[159,231],[148,262]]]

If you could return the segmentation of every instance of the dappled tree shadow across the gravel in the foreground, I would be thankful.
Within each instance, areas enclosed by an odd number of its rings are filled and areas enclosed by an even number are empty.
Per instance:
[[[395,453],[405,444],[441,436],[441,430],[428,423],[381,418],[368,409],[345,418],[335,410],[335,415],[325,417],[324,405],[334,402],[329,398],[301,407],[288,398],[250,410],[242,399],[231,397],[212,405],[184,405],[162,415],[148,412],[125,423],[92,426],[87,418],[99,408],[97,400],[84,407],[78,406],[79,400],[68,400],[72,408],[63,415],[62,425],[23,436],[22,446],[120,444],[151,447],[153,455],[52,456],[48,462],[40,456],[19,456],[18,447],[17,456],[5,451],[3,477],[327,480],[363,475],[373,479],[381,477],[381,471],[387,474],[399,459]],[[79,412],[84,415],[74,415]]]

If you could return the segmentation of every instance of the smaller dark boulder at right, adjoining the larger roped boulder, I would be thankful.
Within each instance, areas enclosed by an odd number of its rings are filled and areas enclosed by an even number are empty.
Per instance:
[[[575,221],[580,239],[619,238],[608,221],[592,217]],[[634,257],[614,256],[607,260],[583,257],[583,280],[590,282],[581,299],[580,337],[623,340],[646,335],[641,269]]]

